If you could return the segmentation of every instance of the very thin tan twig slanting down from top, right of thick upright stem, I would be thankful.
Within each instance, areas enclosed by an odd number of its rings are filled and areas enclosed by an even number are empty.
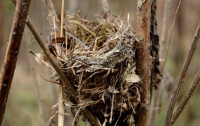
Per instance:
[[[166,47],[165,60],[164,60],[164,63],[163,63],[163,67],[161,69],[161,73],[163,72],[163,70],[165,68],[165,64],[167,62],[168,53],[169,53],[169,47],[170,47],[170,43],[171,43],[171,39],[172,39],[172,32],[174,30],[174,25],[175,25],[175,22],[176,22],[176,17],[177,17],[177,14],[178,14],[181,2],[182,2],[182,0],[179,0],[178,6],[176,8],[175,15],[174,15],[174,20],[173,20],[172,27],[171,27],[171,30],[170,30],[169,41],[168,41],[168,44],[167,44],[167,47]]]

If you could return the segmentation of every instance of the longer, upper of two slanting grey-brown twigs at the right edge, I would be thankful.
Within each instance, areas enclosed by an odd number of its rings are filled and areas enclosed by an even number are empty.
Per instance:
[[[178,76],[177,83],[176,83],[177,87],[174,90],[174,93],[173,93],[173,95],[171,97],[171,100],[170,100],[170,103],[169,103],[169,107],[168,107],[168,110],[167,110],[167,115],[166,115],[166,119],[165,119],[165,126],[171,126],[172,113],[173,113],[173,110],[174,110],[178,95],[180,93],[181,87],[183,85],[183,80],[185,78],[185,74],[186,74],[186,72],[188,70],[190,62],[192,60],[192,56],[193,56],[194,51],[196,49],[197,43],[199,41],[199,38],[200,38],[200,23],[198,24],[196,33],[195,33],[193,41],[191,43],[191,47],[190,47],[190,49],[189,49],[189,51],[187,53],[187,56],[185,58],[183,66],[181,68],[181,72],[180,72],[180,74]]]

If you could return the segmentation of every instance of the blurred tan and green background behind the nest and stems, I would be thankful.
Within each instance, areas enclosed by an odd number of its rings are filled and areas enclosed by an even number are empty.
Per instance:
[[[137,0],[108,0],[112,13],[126,20],[130,14],[133,29],[136,29]],[[53,0],[58,14],[60,14],[61,0]],[[171,0],[168,24],[171,28],[178,0]],[[158,33],[161,36],[163,27],[165,0],[157,0]],[[81,17],[96,20],[101,14],[100,0],[65,0],[65,12],[76,13]],[[9,32],[14,16],[14,6],[10,0],[0,0],[0,68],[4,59]],[[29,17],[45,40],[48,40],[49,25],[46,8],[42,0],[32,0]],[[183,0],[177,15],[172,41],[164,73],[168,84],[163,86],[162,107],[158,116],[158,126],[164,124],[169,101],[169,93],[174,89],[177,75],[189,49],[198,22],[200,21],[200,0]],[[169,30],[170,30],[169,28]],[[169,38],[169,34],[166,36]],[[52,106],[57,103],[57,85],[41,78],[49,79],[49,70],[42,64],[35,62],[29,50],[40,53],[41,50],[29,29],[25,29],[17,67],[11,86],[3,126],[42,126],[51,117]],[[163,58],[163,57],[161,57]],[[195,52],[189,71],[186,75],[181,96],[192,82],[200,67],[200,44]],[[200,89],[196,89],[194,96],[175,123],[175,126],[197,126],[200,124]],[[180,100],[180,99],[179,99]],[[70,120],[70,118],[67,118]],[[67,124],[66,124],[67,125]],[[69,125],[69,123],[68,123]]]

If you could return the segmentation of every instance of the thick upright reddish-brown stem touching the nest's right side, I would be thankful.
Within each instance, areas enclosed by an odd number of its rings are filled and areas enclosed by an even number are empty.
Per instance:
[[[136,126],[150,125],[150,18],[151,0],[138,0],[137,33],[141,39],[137,45],[137,73],[141,78],[141,103],[136,110]]]

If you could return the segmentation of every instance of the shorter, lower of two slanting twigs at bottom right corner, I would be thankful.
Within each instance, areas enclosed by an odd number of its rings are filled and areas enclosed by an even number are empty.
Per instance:
[[[200,69],[197,72],[192,85],[190,86],[190,88],[187,90],[186,94],[184,95],[184,97],[181,99],[181,102],[179,103],[178,108],[176,109],[176,111],[174,112],[173,116],[172,116],[172,124],[174,124],[174,122],[177,120],[177,118],[180,116],[180,114],[182,113],[182,111],[184,110],[185,106],[187,105],[188,101],[190,100],[192,94],[194,93],[194,90],[199,86],[200,84]]]

